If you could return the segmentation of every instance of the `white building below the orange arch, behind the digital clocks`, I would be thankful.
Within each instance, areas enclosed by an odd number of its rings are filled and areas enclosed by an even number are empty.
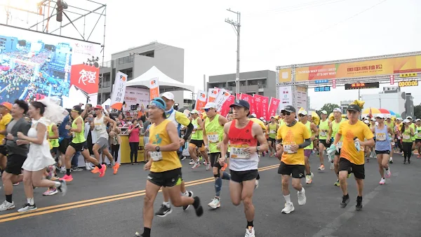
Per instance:
[[[378,94],[361,95],[361,100],[366,102],[364,108],[392,110],[395,114],[400,114],[402,118],[414,116],[413,96],[402,92],[397,86],[385,87]]]

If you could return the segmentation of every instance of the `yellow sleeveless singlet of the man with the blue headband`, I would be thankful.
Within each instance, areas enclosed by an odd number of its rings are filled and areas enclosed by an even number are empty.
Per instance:
[[[158,126],[155,123],[149,128],[149,143],[159,147],[171,144],[170,136],[166,132],[166,126],[171,123],[168,119],[164,120]],[[181,168],[180,158],[178,158],[177,151],[153,151],[152,157],[161,157],[160,161],[153,161],[151,172],[165,172],[168,170],[175,170]]]

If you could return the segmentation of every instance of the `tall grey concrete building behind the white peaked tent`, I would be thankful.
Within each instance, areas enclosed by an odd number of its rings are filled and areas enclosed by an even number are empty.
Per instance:
[[[172,79],[184,82],[184,49],[152,42],[144,46],[128,48],[111,55],[111,60],[100,67],[98,103],[111,97],[116,72],[127,74],[128,81],[144,74],[152,66]],[[102,65],[101,65],[102,66]],[[175,102],[183,104],[183,91],[174,91]]]

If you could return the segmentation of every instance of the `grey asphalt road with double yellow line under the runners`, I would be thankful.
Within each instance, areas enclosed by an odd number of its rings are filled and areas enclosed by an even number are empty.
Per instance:
[[[285,203],[276,158],[260,159],[260,186],[255,191],[256,236],[421,236],[421,160],[403,165],[395,155],[392,177],[380,186],[375,160],[366,163],[363,210],[356,212],[356,185],[349,179],[351,202],[339,207],[342,192],[333,186],[331,170],[316,170],[319,158],[312,156],[314,182],[302,183],[307,203],[298,205],[297,193],[291,188],[295,212],[281,214]],[[154,217],[152,236],[244,236],[246,219],[243,206],[229,199],[229,182],[223,181],[221,208],[209,210],[207,203],[215,194],[213,175],[204,165],[191,170],[183,161],[183,178],[188,190],[199,196],[205,212],[196,217],[193,208],[173,208],[167,217]],[[271,166],[272,165],[272,166]],[[45,189],[35,189],[38,210],[18,213],[25,204],[23,185],[15,187],[15,210],[0,213],[0,236],[134,236],[142,233],[142,201],[147,172],[143,165],[121,165],[117,175],[109,169],[99,178],[91,172],[74,172],[67,196],[42,196]],[[269,168],[265,168],[269,167]],[[328,168],[328,165],[327,165]],[[205,180],[203,180],[205,179]],[[199,180],[199,181],[197,181]],[[0,191],[4,195],[3,191]],[[1,201],[3,197],[1,196]],[[159,194],[154,208],[161,205]]]

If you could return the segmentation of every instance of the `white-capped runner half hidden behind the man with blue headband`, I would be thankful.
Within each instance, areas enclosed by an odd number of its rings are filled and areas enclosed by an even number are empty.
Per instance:
[[[175,102],[174,102],[173,93],[170,93],[170,92],[163,93],[161,95],[161,99],[166,102],[166,111],[165,111],[166,118],[169,121],[174,123],[175,128],[177,128],[178,130],[178,137],[180,137],[181,135],[180,134],[181,126],[187,127],[185,135],[182,138],[180,138],[180,146],[184,147],[185,142],[189,139],[189,136],[192,134],[194,126],[184,113],[174,109]],[[150,136],[149,136],[149,139],[150,139]],[[180,187],[181,187],[181,193],[183,196],[189,196],[189,197],[193,196],[192,191],[186,190],[185,182],[182,179],[181,179]],[[166,217],[166,215],[171,214],[173,210],[171,210],[170,195],[168,194],[168,191],[165,187],[163,187],[162,189],[162,195],[163,195],[163,203],[161,205],[161,208],[159,208],[159,210],[155,212],[155,215],[159,217]],[[183,210],[187,210],[187,208],[189,208],[189,205],[182,207]]]

